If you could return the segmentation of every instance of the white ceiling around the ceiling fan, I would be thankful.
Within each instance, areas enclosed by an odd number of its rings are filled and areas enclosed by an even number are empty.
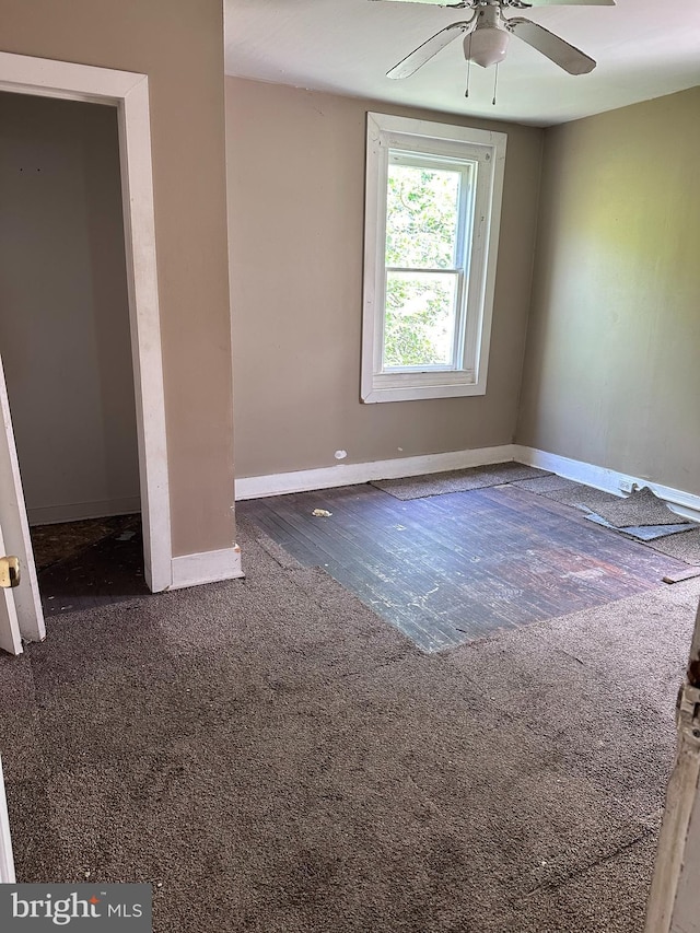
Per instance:
[[[451,114],[548,126],[700,84],[700,0],[510,11],[598,62],[573,77],[512,37],[499,68],[471,67],[456,39],[412,78],[386,71],[469,11],[373,0],[225,0],[226,73]]]

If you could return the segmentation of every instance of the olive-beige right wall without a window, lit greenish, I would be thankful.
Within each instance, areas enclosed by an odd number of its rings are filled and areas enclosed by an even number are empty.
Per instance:
[[[700,89],[547,131],[517,440],[700,493]]]

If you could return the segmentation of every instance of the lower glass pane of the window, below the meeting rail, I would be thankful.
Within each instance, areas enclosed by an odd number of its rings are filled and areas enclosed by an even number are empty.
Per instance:
[[[384,370],[452,369],[456,299],[454,272],[387,272]]]

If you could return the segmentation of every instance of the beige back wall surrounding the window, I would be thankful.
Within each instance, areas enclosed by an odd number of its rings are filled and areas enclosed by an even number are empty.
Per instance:
[[[513,440],[542,131],[464,120],[509,133],[487,395],[362,405],[368,109],[451,119],[226,79],[237,476]]]

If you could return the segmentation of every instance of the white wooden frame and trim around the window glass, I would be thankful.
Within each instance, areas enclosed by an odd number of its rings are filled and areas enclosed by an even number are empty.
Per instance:
[[[362,385],[365,403],[408,401],[485,395],[498,259],[506,135],[428,120],[368,114]],[[407,159],[472,163],[474,197],[463,199],[470,215],[471,248],[463,256],[455,359],[450,368],[384,369],[386,206],[389,152]],[[432,271],[432,270],[424,270]],[[435,270],[438,271],[438,270]],[[454,271],[454,270],[442,270]]]

